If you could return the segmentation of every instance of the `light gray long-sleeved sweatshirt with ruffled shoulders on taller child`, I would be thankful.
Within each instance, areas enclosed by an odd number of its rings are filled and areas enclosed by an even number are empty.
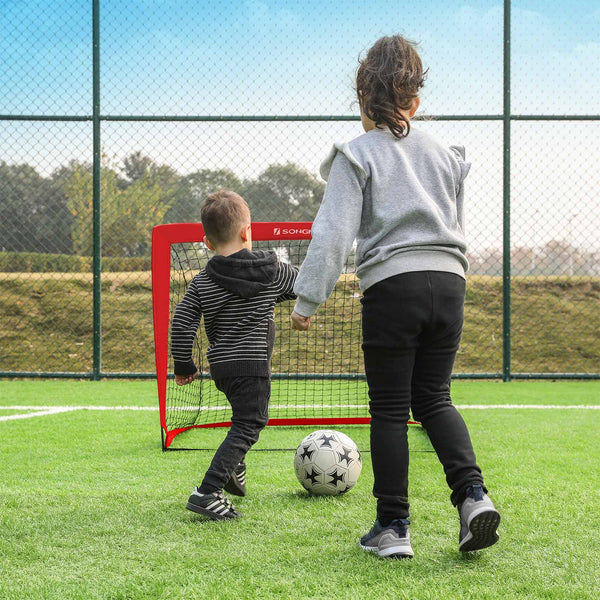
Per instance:
[[[309,317],[327,300],[354,240],[363,291],[411,271],[464,277],[470,167],[463,147],[447,148],[412,126],[401,139],[385,128],[335,144],[321,165],[327,187],[294,285],[296,312]]]

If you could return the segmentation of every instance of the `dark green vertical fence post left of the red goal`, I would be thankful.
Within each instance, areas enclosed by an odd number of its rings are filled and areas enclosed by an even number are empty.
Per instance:
[[[92,0],[92,68],[93,68],[93,311],[94,311],[94,363],[92,377],[100,379],[102,357],[102,237],[100,221],[100,176],[101,176],[101,148],[100,148],[100,0]]]

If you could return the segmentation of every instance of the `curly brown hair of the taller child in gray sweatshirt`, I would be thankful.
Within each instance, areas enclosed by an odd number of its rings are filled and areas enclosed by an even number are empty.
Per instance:
[[[401,111],[411,108],[426,75],[413,42],[401,35],[379,38],[356,72],[362,111],[376,126],[389,127],[397,138],[407,136],[410,122]]]

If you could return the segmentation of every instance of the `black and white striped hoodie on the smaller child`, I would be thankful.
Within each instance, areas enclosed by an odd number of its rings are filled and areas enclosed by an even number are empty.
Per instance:
[[[196,372],[194,337],[204,315],[213,378],[269,377],[275,342],[275,304],[293,300],[298,269],[274,252],[240,250],[213,256],[177,305],[171,327],[176,375]]]

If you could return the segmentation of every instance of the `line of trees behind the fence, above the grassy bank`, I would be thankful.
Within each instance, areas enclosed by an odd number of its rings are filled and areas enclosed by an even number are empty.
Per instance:
[[[229,169],[187,175],[142,152],[119,165],[101,167],[102,254],[140,257],[150,253],[152,227],[199,221],[203,199],[219,188],[241,194],[254,221],[312,221],[325,184],[302,167],[268,166],[242,179]],[[92,255],[92,165],[71,161],[50,176],[27,164],[0,160],[0,251]],[[502,274],[502,251],[471,252],[472,274]],[[562,240],[511,250],[514,275],[600,275],[600,255]]]

